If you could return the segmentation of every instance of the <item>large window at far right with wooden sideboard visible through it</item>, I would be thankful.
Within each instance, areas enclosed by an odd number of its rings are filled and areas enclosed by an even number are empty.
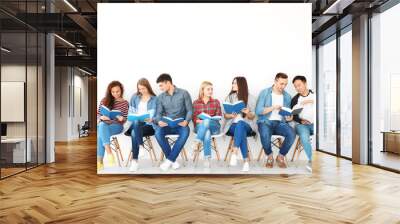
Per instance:
[[[400,4],[373,15],[371,73],[372,163],[400,170]]]

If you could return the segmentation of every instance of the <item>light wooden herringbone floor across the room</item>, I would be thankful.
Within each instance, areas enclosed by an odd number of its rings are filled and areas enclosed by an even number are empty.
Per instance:
[[[312,175],[97,176],[94,137],[0,181],[0,223],[400,223],[400,175],[316,153]]]

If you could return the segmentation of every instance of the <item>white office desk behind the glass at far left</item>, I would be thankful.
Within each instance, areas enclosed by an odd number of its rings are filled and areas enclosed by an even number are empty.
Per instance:
[[[26,139],[28,143],[25,154],[25,138],[6,138],[1,140],[1,157],[9,163],[31,162],[32,140]],[[12,154],[12,156],[10,155]],[[12,158],[12,159],[11,159]],[[25,161],[26,159],[26,161]]]

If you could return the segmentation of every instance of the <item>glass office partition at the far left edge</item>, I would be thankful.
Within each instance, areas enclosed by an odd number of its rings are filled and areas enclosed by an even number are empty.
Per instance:
[[[17,11],[42,12],[40,5],[19,2]],[[0,17],[13,20],[1,12]],[[45,35],[22,23],[9,27],[0,27],[0,178],[45,163],[46,152]]]

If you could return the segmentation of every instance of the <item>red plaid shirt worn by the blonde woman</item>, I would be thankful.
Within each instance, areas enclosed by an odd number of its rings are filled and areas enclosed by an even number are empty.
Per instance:
[[[210,98],[207,103],[204,103],[203,99],[195,100],[193,102],[193,125],[195,128],[197,125],[197,116],[203,112],[210,116],[221,116],[221,104],[214,98]]]

